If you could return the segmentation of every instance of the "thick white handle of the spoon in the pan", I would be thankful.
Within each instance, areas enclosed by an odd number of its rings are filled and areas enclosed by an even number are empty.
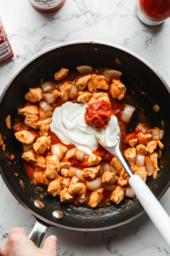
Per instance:
[[[133,175],[128,180],[134,193],[137,195],[145,212],[149,215],[156,229],[161,234],[164,241],[170,247],[170,218],[156,196],[151,192],[141,177]]]

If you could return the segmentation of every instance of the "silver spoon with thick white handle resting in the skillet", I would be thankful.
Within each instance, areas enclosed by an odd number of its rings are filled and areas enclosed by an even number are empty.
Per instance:
[[[167,212],[161,206],[161,203],[156,199],[156,196],[144,183],[143,179],[139,177],[139,175],[134,175],[133,171],[127,165],[127,161],[122,155],[120,126],[119,139],[114,146],[109,147],[105,145],[102,143],[102,140],[99,137],[97,137],[97,140],[103,148],[111,152],[111,154],[114,154],[116,158],[122,163],[122,166],[130,177],[128,183],[131,185],[135,195],[138,197],[141,205],[144,207],[145,212],[147,212],[151,221],[153,224],[155,224],[156,229],[160,232],[161,236],[170,247],[170,218]]]

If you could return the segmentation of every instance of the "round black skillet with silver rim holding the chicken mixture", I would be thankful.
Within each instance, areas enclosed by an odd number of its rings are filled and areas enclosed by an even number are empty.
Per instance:
[[[167,83],[156,73],[153,67],[131,51],[114,44],[94,43],[76,41],[59,44],[42,51],[30,61],[27,61],[15,73],[14,78],[6,86],[1,96],[0,133],[7,138],[4,140],[6,153],[14,154],[15,160],[9,160],[8,156],[3,153],[3,149],[0,148],[0,172],[14,197],[20,201],[22,206],[42,221],[36,224],[31,234],[34,236],[31,239],[34,240],[37,239],[37,236],[42,237],[42,232],[45,232],[48,225],[80,231],[107,230],[127,224],[144,213],[139,201],[129,198],[125,198],[117,206],[112,204],[110,207],[97,209],[62,204],[59,202],[59,198],[52,198],[46,192],[44,197],[40,199],[37,188],[31,185],[30,178],[27,176],[20,158],[22,154],[20,144],[16,141],[13,130],[7,128],[4,119],[10,114],[13,126],[14,119],[17,116],[17,108],[24,105],[24,96],[29,88],[37,87],[41,79],[44,79],[44,81],[53,79],[54,73],[60,67],[69,68],[71,72],[75,71],[77,66],[88,65],[94,68],[110,67],[122,72],[122,82],[126,84],[127,94],[133,98],[133,102],[138,106],[128,131],[131,128],[134,129],[138,124],[139,114],[142,112],[144,112],[150,127],[162,129],[161,121],[165,124],[163,139],[165,149],[159,162],[161,171],[156,180],[150,177],[147,184],[158,199],[169,187],[170,119],[168,112],[170,109],[170,90]],[[114,61],[116,57],[122,61],[122,65],[116,64]],[[161,108],[158,113],[152,109],[155,104],[158,104]],[[14,164],[14,162],[16,163]],[[15,177],[14,173],[18,173],[19,176]],[[20,179],[25,183],[25,189],[20,186]],[[44,209],[41,210],[34,205],[34,201],[37,199],[44,203]],[[54,210],[63,212],[64,218],[55,218],[52,214]]]

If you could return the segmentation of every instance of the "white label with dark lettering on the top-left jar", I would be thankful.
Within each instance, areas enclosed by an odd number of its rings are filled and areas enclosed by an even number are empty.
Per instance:
[[[40,9],[53,9],[62,2],[62,0],[30,0],[32,4]]]

